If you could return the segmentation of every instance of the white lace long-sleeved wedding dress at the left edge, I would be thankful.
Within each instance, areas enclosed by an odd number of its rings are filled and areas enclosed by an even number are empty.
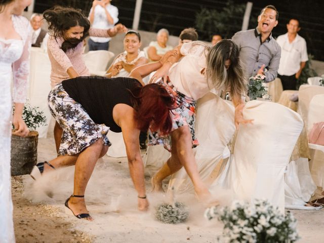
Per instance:
[[[28,20],[22,16],[12,16],[12,21],[21,39],[0,38],[0,241],[2,243],[15,242],[10,170],[12,102],[25,102],[31,46]],[[11,95],[12,77],[13,95]]]

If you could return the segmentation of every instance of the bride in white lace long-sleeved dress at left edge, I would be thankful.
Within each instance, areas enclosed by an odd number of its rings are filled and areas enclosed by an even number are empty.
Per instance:
[[[0,241],[15,242],[11,200],[10,144],[14,134],[26,136],[29,130],[22,119],[29,74],[29,21],[19,16],[31,0],[0,0]],[[5,27],[6,26],[6,27]],[[11,77],[13,76],[13,96]],[[12,115],[12,100],[15,113]]]

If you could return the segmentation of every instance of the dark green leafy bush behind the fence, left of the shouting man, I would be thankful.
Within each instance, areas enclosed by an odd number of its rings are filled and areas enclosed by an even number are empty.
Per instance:
[[[203,8],[196,14],[195,27],[209,39],[214,34],[231,38],[234,33],[241,30],[245,8],[245,4],[234,4],[232,1],[228,1],[226,7],[220,11]]]

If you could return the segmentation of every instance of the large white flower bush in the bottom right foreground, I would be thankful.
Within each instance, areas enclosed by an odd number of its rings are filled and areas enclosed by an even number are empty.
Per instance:
[[[300,238],[294,216],[289,211],[281,214],[267,200],[234,201],[231,207],[211,207],[205,211],[205,217],[224,223],[224,242],[293,243]]]

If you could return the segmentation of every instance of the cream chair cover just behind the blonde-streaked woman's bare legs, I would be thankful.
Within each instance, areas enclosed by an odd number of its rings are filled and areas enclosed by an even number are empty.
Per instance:
[[[235,132],[234,107],[219,96],[208,93],[197,102],[195,135],[199,146],[194,149],[200,178],[210,184],[214,169],[222,158],[229,140]],[[193,192],[192,182],[184,168],[175,173],[169,182],[177,193]]]

